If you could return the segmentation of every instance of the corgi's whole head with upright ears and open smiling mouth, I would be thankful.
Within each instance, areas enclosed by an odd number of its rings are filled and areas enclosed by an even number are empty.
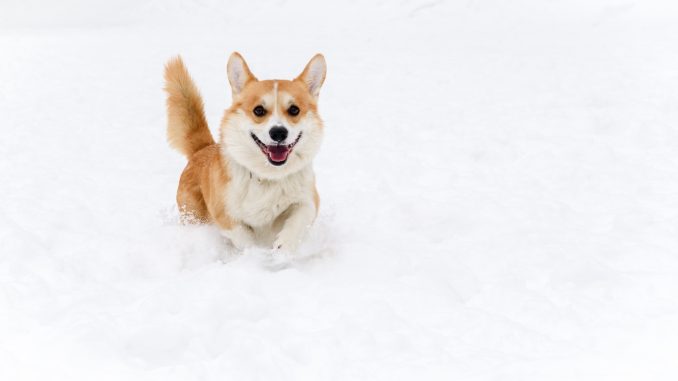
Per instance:
[[[325,72],[325,59],[318,54],[294,80],[259,81],[233,53],[228,61],[233,104],[221,123],[226,155],[268,179],[310,164],[323,135],[317,102]]]

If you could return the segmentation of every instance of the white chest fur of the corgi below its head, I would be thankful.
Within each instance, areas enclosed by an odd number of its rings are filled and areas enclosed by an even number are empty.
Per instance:
[[[227,213],[254,228],[271,225],[293,204],[313,200],[311,166],[280,180],[259,179],[237,164],[229,166],[229,175]]]

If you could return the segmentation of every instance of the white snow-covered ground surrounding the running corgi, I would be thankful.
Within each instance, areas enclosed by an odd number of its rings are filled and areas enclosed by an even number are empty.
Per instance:
[[[5,0],[0,380],[678,379],[678,5]],[[177,223],[162,67],[316,52],[302,252]]]

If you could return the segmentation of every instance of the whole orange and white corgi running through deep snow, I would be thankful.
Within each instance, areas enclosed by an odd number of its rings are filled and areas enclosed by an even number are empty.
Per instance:
[[[294,252],[320,202],[313,158],[325,58],[315,55],[293,80],[258,80],[237,52],[226,69],[232,104],[217,143],[181,57],[165,66],[167,139],[188,159],[176,197],[182,220],[216,224],[237,249]]]

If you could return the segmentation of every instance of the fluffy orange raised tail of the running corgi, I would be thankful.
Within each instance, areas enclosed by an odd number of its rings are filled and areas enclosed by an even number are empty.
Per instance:
[[[167,140],[187,158],[214,144],[207,127],[202,98],[181,57],[165,65],[167,92]]]

